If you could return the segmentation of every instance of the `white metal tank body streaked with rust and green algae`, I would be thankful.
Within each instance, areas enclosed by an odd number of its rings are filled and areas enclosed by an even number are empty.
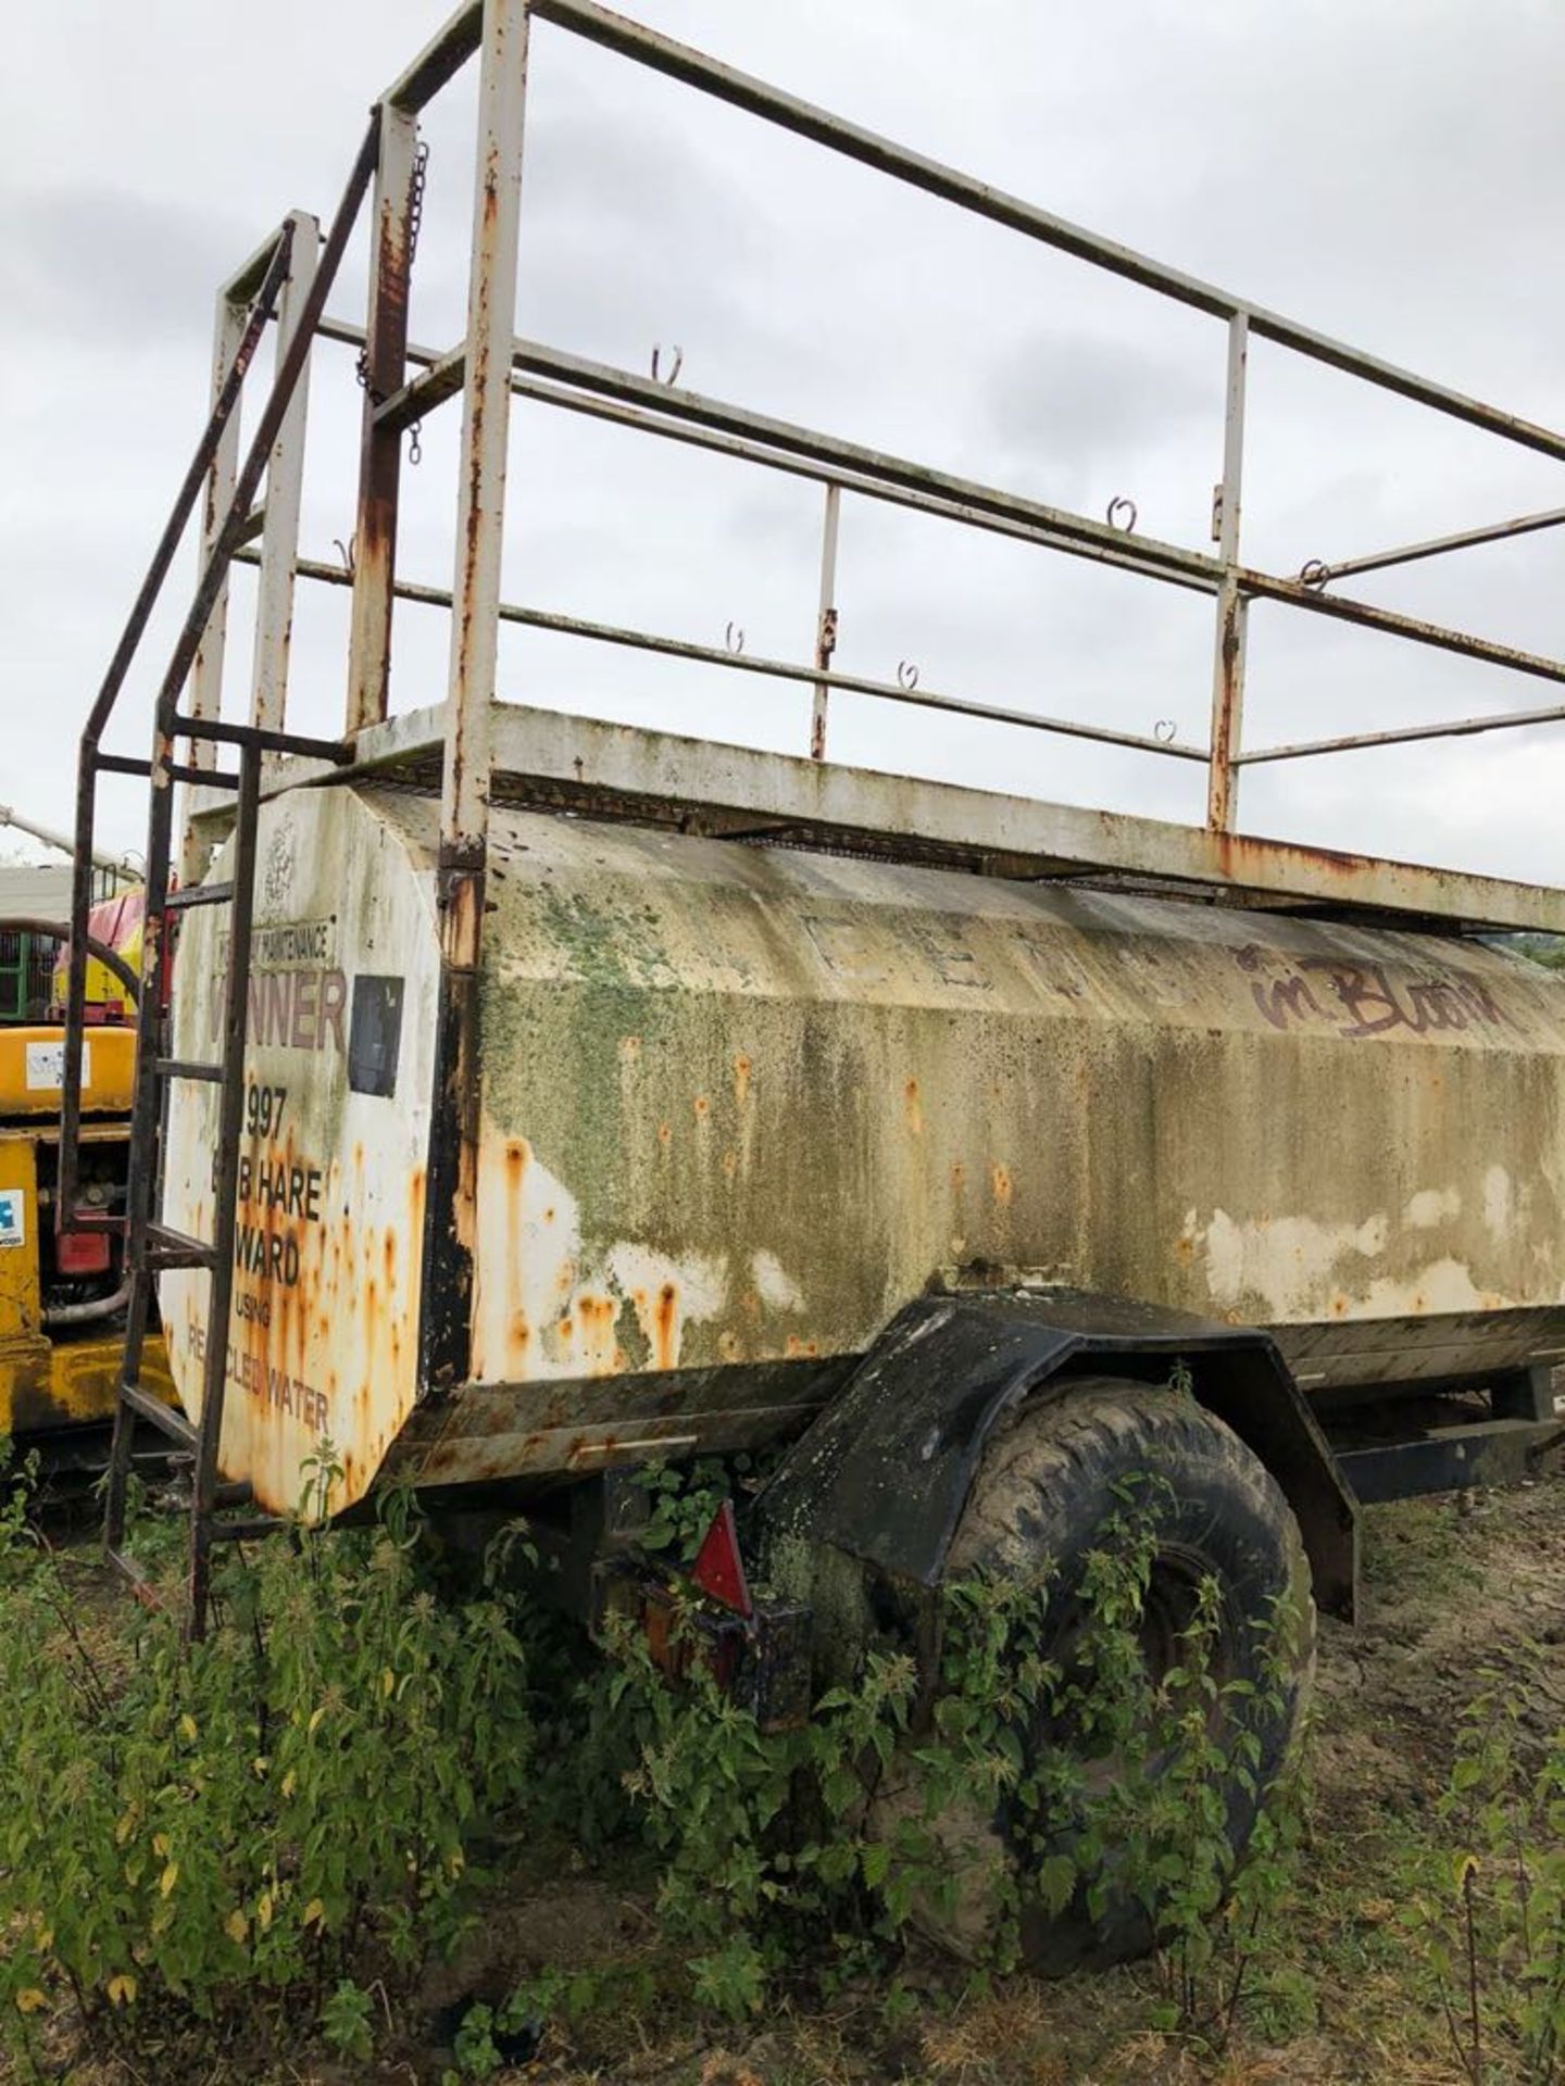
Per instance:
[[[1313,1393],[1565,1350],[1565,995],[1523,957],[497,807],[472,1356],[419,1402],[438,811],[355,782],[261,816],[219,1464],[267,1508],[328,1444],[340,1508],[382,1466],[768,1439],[931,1285],[1265,1325]],[[194,912],[179,1058],[223,980]],[[194,1237],[215,1108],[171,1108]],[[192,1416],[204,1297],[163,1277]]]

